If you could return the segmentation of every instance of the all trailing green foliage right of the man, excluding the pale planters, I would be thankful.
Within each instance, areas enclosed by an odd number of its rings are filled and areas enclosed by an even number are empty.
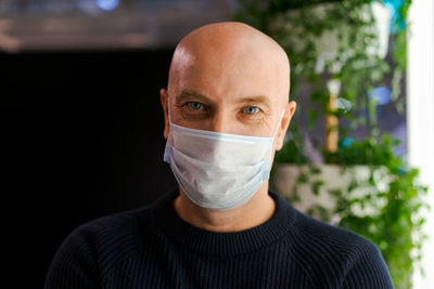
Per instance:
[[[391,37],[390,63],[379,54],[367,53],[370,47],[379,45],[379,37],[372,29],[374,17],[367,10],[371,0],[238,2],[240,9],[234,18],[270,35],[286,51],[292,68],[291,98],[297,98],[299,86],[309,86],[311,93],[308,97],[317,104],[316,107],[303,111],[309,117],[308,128],[297,123],[297,118],[293,120],[290,126],[291,140],[276,155],[275,165],[308,163],[307,171],[301,169],[297,185],[309,184],[311,192],[318,195],[324,182],[312,181],[310,178],[318,175],[320,169],[311,163],[305,149],[305,131],[322,126],[324,121],[320,121],[321,117],[340,119],[340,126],[327,128],[328,134],[339,130],[340,142],[336,149],[323,149],[320,141],[309,136],[311,143],[324,162],[340,165],[343,170],[354,165],[365,165],[370,170],[370,176],[363,182],[354,178],[345,189],[328,192],[335,203],[332,210],[316,205],[308,213],[327,222],[339,215],[340,226],[357,232],[378,245],[388,264],[395,287],[411,288],[410,277],[414,263],[420,259],[424,238],[421,233],[424,222],[421,212],[426,209],[422,201],[426,188],[416,182],[418,170],[408,168],[403,159],[394,155],[393,148],[397,141],[378,129],[374,109],[376,103],[368,94],[375,87],[386,86],[384,76],[391,74],[392,82],[388,86],[393,91],[392,100],[399,111],[404,109],[400,86],[406,68],[406,29],[401,26],[411,0],[401,1],[393,22],[395,32]],[[323,4],[326,16],[324,13],[312,13],[312,6],[317,4]],[[321,58],[321,48],[316,41],[330,31],[336,35],[337,53]],[[321,69],[318,66],[322,66]],[[333,96],[328,90],[330,80],[342,83],[339,101],[352,103],[350,109],[348,106],[341,106],[344,109],[330,108]],[[352,113],[348,114],[348,110]],[[369,129],[365,140],[347,139],[352,131],[360,127]],[[387,180],[385,187],[379,185],[379,178],[375,176],[379,173]],[[292,202],[301,197],[297,185],[294,187]],[[360,188],[373,193],[360,196],[355,193]],[[360,208],[372,210],[369,214],[362,214]]]

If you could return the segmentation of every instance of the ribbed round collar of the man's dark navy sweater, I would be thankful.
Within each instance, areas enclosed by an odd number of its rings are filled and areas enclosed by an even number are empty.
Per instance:
[[[295,220],[295,209],[273,192],[273,215],[265,223],[235,233],[216,233],[197,228],[178,216],[173,200],[178,189],[163,196],[152,207],[157,226],[174,241],[189,251],[215,255],[237,255],[252,252],[282,238]]]

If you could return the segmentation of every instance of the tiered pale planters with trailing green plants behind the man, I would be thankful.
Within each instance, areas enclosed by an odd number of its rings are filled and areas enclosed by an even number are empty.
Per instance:
[[[395,287],[410,288],[423,241],[420,212],[426,189],[416,182],[418,171],[394,154],[397,141],[379,130],[373,93],[391,74],[392,101],[403,109],[405,29],[392,38],[393,60],[387,63],[388,32],[379,30],[388,29],[381,24],[381,17],[387,18],[381,1],[238,2],[235,19],[270,35],[288,52],[291,97],[296,100],[299,89],[307,91],[314,107],[302,107],[302,114],[308,115],[308,127],[324,130],[318,141],[294,118],[290,140],[276,156],[271,185],[294,207],[375,242]],[[409,4],[403,1],[395,28]],[[348,137],[360,128],[367,135]]]

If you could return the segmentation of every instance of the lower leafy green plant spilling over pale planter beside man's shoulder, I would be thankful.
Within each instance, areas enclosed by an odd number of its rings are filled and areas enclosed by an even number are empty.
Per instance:
[[[406,169],[404,161],[394,156],[392,147],[395,144],[396,141],[384,134],[381,142],[371,139],[354,142],[328,155],[335,163],[359,163],[371,168],[366,184],[350,183],[346,192],[332,192],[336,206],[331,213],[341,216],[340,226],[359,233],[379,246],[396,288],[411,288],[413,264],[421,258],[425,238],[420,211],[427,208],[422,199],[426,187],[416,183],[418,170]],[[383,191],[378,191],[374,180],[379,168],[386,169],[385,176],[390,179]],[[355,197],[354,188],[360,185],[371,187],[375,193]],[[375,212],[360,215],[355,209],[360,205],[375,207]]]

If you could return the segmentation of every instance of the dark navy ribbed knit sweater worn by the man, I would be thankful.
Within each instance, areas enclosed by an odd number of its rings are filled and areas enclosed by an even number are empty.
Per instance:
[[[393,288],[373,244],[301,213],[272,192],[271,219],[237,233],[182,221],[171,205],[178,194],[75,229],[44,288]]]

